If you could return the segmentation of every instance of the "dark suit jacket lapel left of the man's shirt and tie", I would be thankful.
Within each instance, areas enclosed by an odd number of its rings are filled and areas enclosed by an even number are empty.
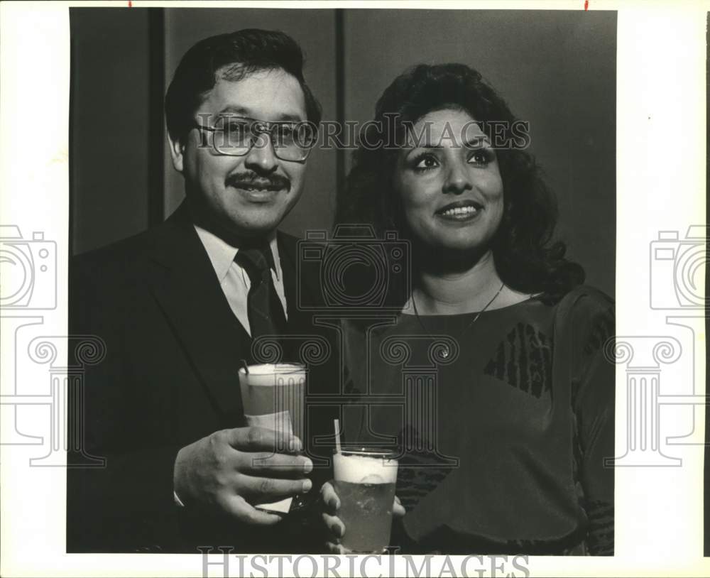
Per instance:
[[[150,251],[151,291],[215,408],[241,419],[239,359],[249,358],[249,334],[229,307],[186,207],[162,227]]]

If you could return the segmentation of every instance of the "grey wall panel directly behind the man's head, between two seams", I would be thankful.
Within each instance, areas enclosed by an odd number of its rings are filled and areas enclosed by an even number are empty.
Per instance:
[[[306,58],[306,80],[323,105],[323,118],[333,119],[336,108],[334,23],[333,10],[166,9],[165,89],[180,58],[197,40],[240,28],[280,30],[301,45]],[[312,151],[305,191],[282,229],[297,236],[302,236],[306,229],[329,229],[335,203],[335,170],[335,151]],[[184,181],[173,169],[166,145],[165,214],[173,212],[182,198]]]

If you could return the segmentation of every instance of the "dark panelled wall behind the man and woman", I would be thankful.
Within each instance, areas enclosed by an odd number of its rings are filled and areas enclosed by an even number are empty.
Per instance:
[[[616,13],[585,11],[71,9],[72,247],[80,253],[158,222],[182,199],[165,145],[162,95],[185,50],[212,34],[278,28],[306,55],[324,119],[371,119],[395,75],[465,62],[530,122],[557,193],[558,234],[589,283],[614,293]],[[97,127],[115,127],[111,150]],[[328,229],[349,154],[312,153],[283,228]]]

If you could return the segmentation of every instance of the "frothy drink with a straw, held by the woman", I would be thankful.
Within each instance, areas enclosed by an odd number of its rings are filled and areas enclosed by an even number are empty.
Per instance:
[[[345,524],[341,542],[352,552],[383,552],[392,531],[392,505],[397,484],[393,452],[343,448],[334,454],[338,516]]]

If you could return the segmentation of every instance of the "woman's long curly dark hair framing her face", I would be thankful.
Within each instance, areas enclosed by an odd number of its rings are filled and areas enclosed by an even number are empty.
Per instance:
[[[371,224],[380,238],[387,230],[408,238],[403,209],[392,186],[399,151],[388,144],[403,142],[405,126],[431,111],[448,108],[460,108],[484,125],[495,122],[504,127],[507,132],[496,133],[496,141],[502,136],[504,143],[515,142],[515,138],[519,142],[520,135],[511,132],[517,119],[479,72],[456,63],[417,65],[383,92],[374,121],[361,133],[345,194],[338,202],[337,224]],[[522,148],[503,146],[496,148],[496,154],[504,204],[492,246],[498,275],[523,293],[564,295],[584,282],[584,269],[564,258],[562,241],[552,242],[557,222],[555,196],[535,159]]]

